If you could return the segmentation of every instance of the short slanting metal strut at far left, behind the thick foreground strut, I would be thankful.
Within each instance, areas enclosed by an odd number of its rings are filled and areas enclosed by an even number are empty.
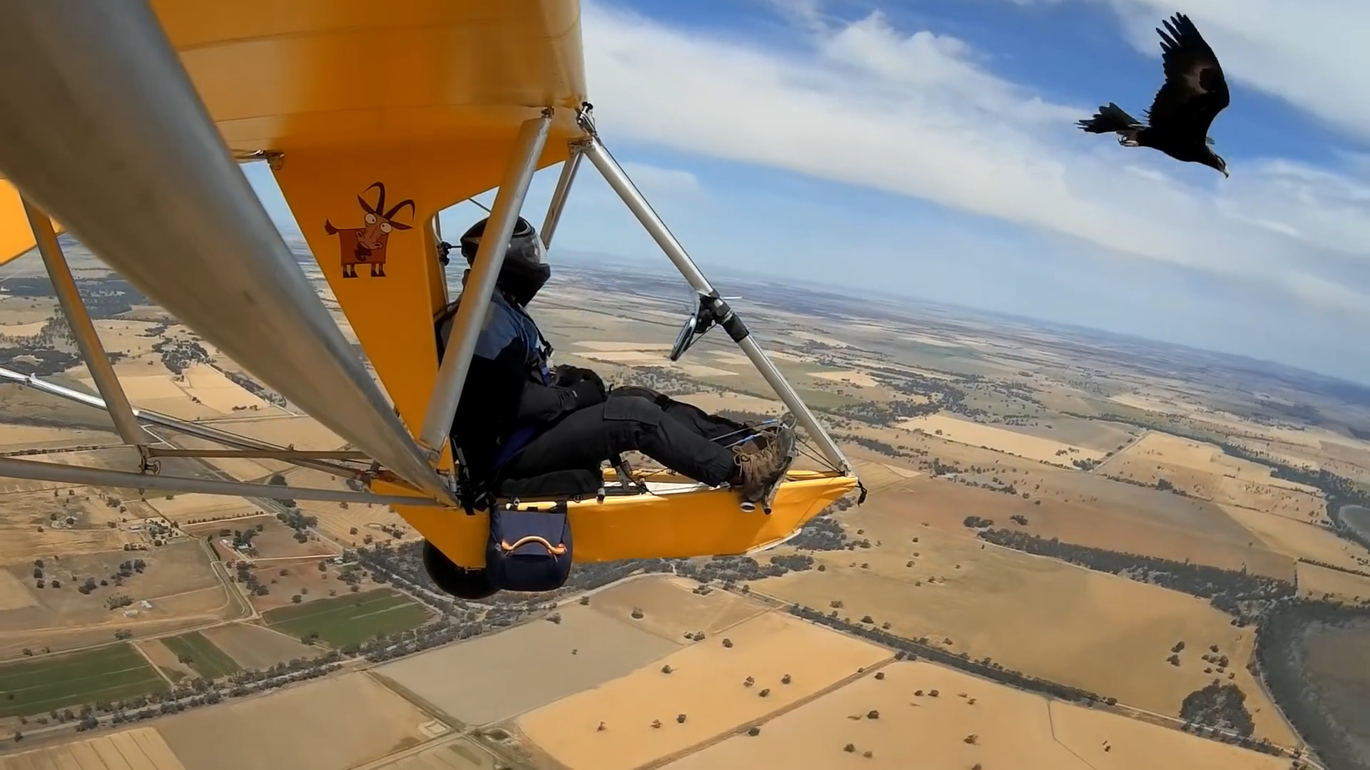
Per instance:
[[[107,404],[105,411],[114,422],[115,432],[125,444],[145,451],[152,437],[138,425],[138,418],[133,414],[133,406],[119,384],[119,377],[110,364],[110,356],[105,355],[100,334],[96,333],[95,323],[90,321],[90,311],[81,300],[77,281],[71,277],[71,267],[62,253],[58,234],[52,230],[52,219],[29,200],[23,200],[23,212],[29,218],[29,227],[33,230],[33,240],[42,256],[42,266],[48,270],[48,281],[52,282],[52,290],[58,295],[58,303],[62,306],[63,315],[67,316],[71,334],[77,338],[81,358],[85,359],[86,369],[90,370],[90,380],[95,381],[96,390],[100,390],[100,397]]]

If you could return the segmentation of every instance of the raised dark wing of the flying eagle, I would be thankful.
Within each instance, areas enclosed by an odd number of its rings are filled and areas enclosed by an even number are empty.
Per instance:
[[[1228,81],[1212,48],[1189,16],[1175,14],[1162,23],[1166,29],[1156,33],[1160,34],[1166,82],[1147,110],[1147,122],[1158,133],[1189,134],[1201,141],[1212,119],[1229,103]]]

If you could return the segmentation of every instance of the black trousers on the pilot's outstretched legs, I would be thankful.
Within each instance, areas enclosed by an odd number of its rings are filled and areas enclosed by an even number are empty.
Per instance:
[[[597,469],[621,452],[641,452],[675,473],[718,486],[733,480],[732,441],[745,426],[649,388],[615,388],[604,403],[563,417],[500,470],[529,478],[556,470]]]

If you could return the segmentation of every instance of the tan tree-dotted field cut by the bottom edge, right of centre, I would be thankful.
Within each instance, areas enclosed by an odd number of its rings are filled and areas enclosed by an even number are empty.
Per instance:
[[[1286,759],[1049,701],[930,663],[895,663],[881,673],[882,680],[860,677],[763,722],[755,737],[726,737],[666,767],[841,767],[852,762],[889,770],[977,765],[1043,770],[1288,767]],[[862,762],[863,756],[870,760]]]

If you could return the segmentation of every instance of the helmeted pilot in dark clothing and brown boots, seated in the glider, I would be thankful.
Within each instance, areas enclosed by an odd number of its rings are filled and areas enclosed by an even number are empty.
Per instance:
[[[460,238],[467,264],[486,221]],[[756,430],[648,388],[610,389],[589,369],[551,369],[551,345],[525,310],[549,277],[543,238],[519,216],[452,421],[452,440],[473,481],[597,470],[629,451],[710,486],[740,488],[749,501],[780,480],[795,443],[788,426]],[[440,351],[455,304],[438,318]],[[747,433],[755,436],[738,441]]]

